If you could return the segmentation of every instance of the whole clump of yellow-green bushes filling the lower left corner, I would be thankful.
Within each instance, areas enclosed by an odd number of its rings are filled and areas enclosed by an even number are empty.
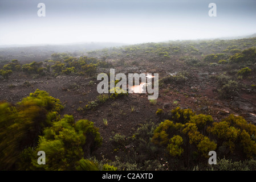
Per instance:
[[[62,109],[58,99],[38,89],[16,106],[0,103],[0,169],[83,169],[88,164],[84,156],[102,139],[91,121],[74,122],[72,115],[61,119]],[[46,165],[37,163],[41,150],[47,154]]]

